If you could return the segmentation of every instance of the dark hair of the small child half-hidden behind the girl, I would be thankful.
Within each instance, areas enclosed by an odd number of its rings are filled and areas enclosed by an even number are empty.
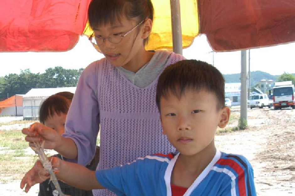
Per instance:
[[[60,92],[44,100],[39,109],[39,120],[42,124],[54,114],[67,114],[73,99],[73,93]]]

